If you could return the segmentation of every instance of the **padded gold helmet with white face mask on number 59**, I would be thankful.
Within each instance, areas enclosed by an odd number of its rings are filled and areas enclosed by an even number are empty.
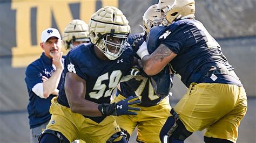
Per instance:
[[[89,22],[90,41],[95,44],[110,60],[117,59],[125,50],[126,38],[131,31],[123,12],[113,6],[105,6],[91,16]],[[121,44],[107,41],[108,37],[122,39]],[[112,53],[107,45],[116,47]]]

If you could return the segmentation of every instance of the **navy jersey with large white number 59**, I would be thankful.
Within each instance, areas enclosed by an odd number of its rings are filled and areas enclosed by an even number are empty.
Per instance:
[[[64,76],[72,72],[86,81],[86,100],[98,104],[110,103],[113,90],[129,72],[132,63],[133,52],[129,46],[116,60],[104,61],[97,57],[92,44],[82,44],[66,55]],[[64,86],[65,81],[59,91],[58,103],[69,108]]]

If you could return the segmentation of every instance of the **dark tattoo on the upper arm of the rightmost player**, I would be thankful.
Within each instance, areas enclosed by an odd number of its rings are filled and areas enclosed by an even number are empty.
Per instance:
[[[152,58],[155,61],[158,61],[158,60],[163,61],[164,58],[166,58],[167,56],[171,55],[172,53],[173,52],[168,47],[166,47],[165,45],[161,44],[156,49],[156,51],[154,51],[152,53]]]

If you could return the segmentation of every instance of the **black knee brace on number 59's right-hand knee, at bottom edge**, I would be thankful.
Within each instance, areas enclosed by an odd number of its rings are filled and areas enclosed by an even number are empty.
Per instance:
[[[126,130],[124,130],[123,128],[121,128],[120,132],[116,132],[113,135],[111,135],[111,137],[109,139],[107,139],[106,143],[112,143],[112,142],[128,142],[128,139],[130,138],[130,134],[128,134],[126,132]],[[114,141],[115,139],[117,139],[118,137],[123,136],[121,140],[119,141]]]

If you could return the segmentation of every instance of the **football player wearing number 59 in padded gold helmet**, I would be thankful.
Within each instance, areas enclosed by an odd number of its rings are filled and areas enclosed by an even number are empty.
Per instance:
[[[110,103],[113,90],[130,71],[133,51],[122,11],[105,6],[91,16],[89,44],[72,49],[65,59],[65,81],[52,99],[50,123],[39,142],[127,142],[113,116],[136,115],[138,97]],[[112,116],[113,115],[113,116]]]

